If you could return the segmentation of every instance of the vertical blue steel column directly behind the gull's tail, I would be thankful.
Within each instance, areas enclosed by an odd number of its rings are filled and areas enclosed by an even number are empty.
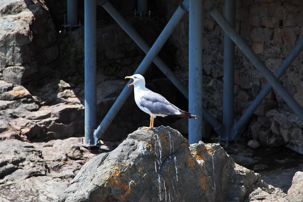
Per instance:
[[[189,0],[189,111],[197,119],[188,121],[190,144],[202,140],[202,0]]]

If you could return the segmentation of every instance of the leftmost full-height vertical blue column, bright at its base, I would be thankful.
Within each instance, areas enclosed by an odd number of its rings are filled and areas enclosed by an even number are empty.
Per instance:
[[[93,137],[96,128],[96,0],[84,1],[84,77],[85,77],[85,143],[96,144]]]

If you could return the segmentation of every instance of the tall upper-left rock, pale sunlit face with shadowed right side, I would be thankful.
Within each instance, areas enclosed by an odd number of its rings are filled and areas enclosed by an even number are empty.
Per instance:
[[[55,26],[40,1],[0,0],[0,79],[6,82],[23,84],[57,58]]]

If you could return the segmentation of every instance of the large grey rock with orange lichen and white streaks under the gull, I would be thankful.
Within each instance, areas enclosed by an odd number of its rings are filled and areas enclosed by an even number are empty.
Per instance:
[[[288,202],[219,144],[189,145],[178,131],[160,126],[136,130],[114,151],[91,159],[58,202],[243,202],[254,189]]]

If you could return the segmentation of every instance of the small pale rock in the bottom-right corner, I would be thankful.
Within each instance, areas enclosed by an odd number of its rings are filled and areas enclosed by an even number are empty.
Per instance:
[[[292,178],[292,185],[288,189],[288,199],[291,202],[302,202],[303,200],[303,172],[298,171]]]

